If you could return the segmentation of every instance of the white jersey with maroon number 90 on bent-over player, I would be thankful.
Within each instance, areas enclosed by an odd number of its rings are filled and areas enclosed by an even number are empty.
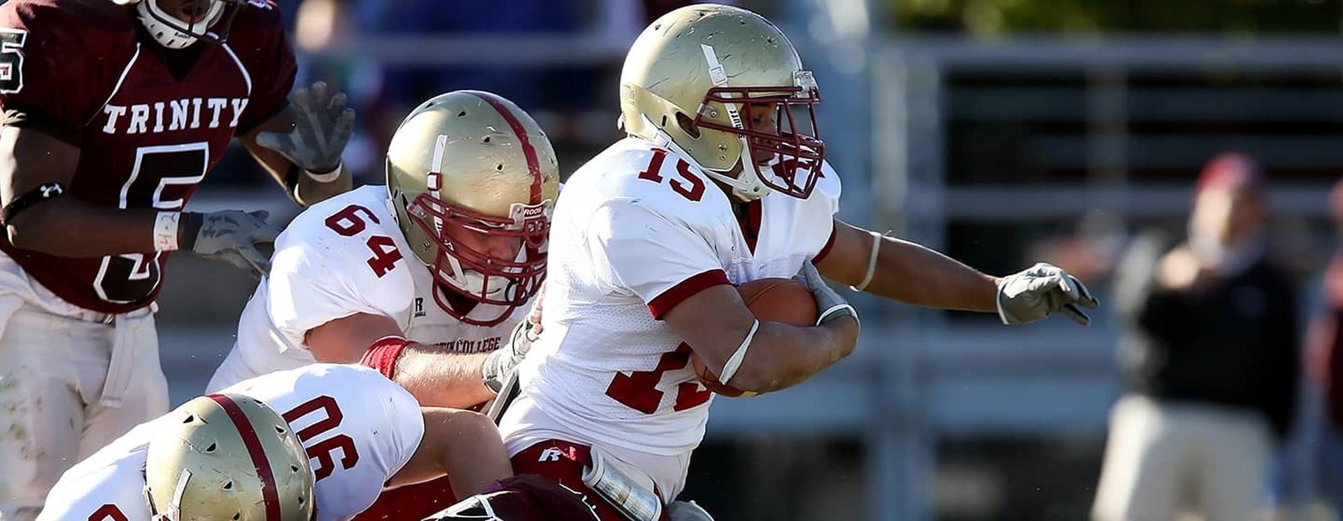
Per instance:
[[[377,500],[419,449],[424,417],[404,388],[355,364],[310,364],[223,390],[259,399],[298,433],[313,467],[317,520],[349,520]],[[67,470],[47,496],[42,520],[149,521],[145,455],[160,417]],[[118,513],[111,513],[107,506]]]

